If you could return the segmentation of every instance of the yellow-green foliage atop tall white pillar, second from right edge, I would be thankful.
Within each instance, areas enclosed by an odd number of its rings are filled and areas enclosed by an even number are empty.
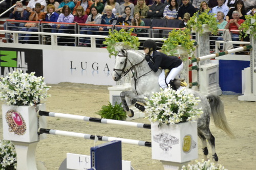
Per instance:
[[[188,22],[187,26],[191,30],[195,30],[196,32],[199,32],[200,35],[203,34],[203,24],[207,24],[209,26],[209,31],[213,35],[218,34],[218,21],[215,17],[215,14],[208,13],[209,10],[205,10],[201,14],[199,14],[199,11],[192,16]]]

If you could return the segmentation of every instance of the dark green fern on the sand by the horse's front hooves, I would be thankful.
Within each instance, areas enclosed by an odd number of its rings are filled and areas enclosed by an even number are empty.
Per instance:
[[[109,102],[109,105],[102,106],[101,110],[96,112],[96,114],[100,115],[102,118],[114,119],[114,120],[125,120],[126,112],[122,108],[122,103],[112,105]]]

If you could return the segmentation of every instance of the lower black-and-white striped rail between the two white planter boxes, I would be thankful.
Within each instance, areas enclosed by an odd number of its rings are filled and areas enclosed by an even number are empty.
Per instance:
[[[61,130],[54,130],[54,129],[45,129],[45,128],[39,128],[38,133],[69,136],[69,137],[79,137],[79,138],[91,139],[91,140],[95,139],[95,135],[90,135],[90,134],[85,134],[85,133],[77,133],[77,132],[69,132],[69,131],[61,131]],[[151,142],[148,142],[148,141],[124,139],[124,138],[118,138],[118,137],[98,136],[98,135],[97,135],[97,137],[98,137],[98,140],[101,140],[101,141],[121,140],[122,143],[126,143],[126,144],[139,145],[139,146],[143,146],[143,147],[151,147]]]

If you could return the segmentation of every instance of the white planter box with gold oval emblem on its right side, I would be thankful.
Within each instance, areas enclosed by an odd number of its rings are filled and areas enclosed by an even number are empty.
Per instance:
[[[186,162],[198,158],[197,122],[151,124],[152,159]]]

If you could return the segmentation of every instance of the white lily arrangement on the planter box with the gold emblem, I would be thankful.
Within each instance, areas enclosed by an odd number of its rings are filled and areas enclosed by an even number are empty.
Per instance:
[[[178,124],[190,120],[196,120],[203,111],[195,107],[200,102],[199,98],[188,93],[185,89],[176,91],[170,88],[153,93],[151,99],[146,100],[145,111],[152,123]]]

